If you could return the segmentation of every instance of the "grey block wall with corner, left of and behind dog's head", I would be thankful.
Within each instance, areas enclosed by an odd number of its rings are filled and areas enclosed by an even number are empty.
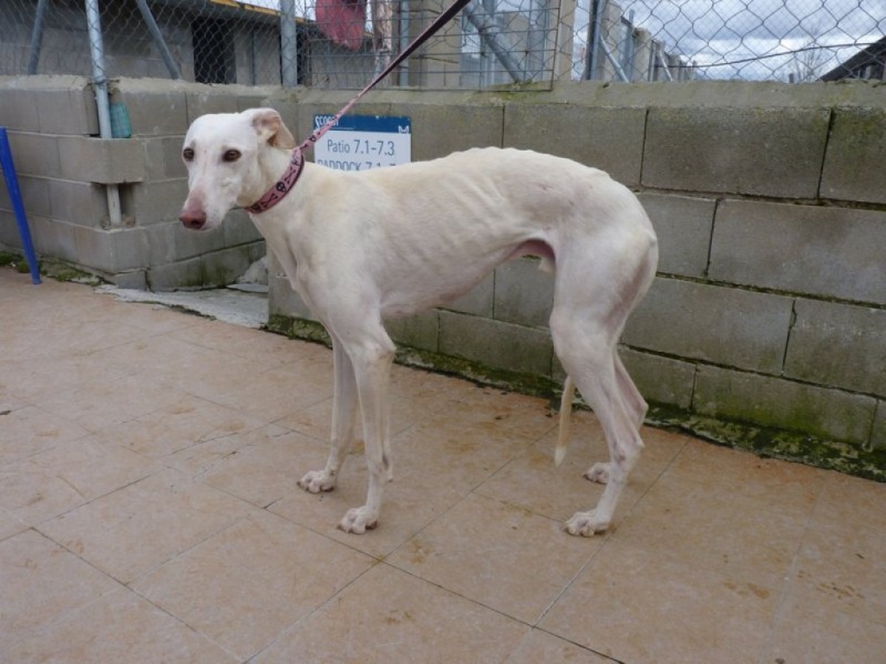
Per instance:
[[[265,255],[244,212],[222,228],[182,228],[187,193],[181,159],[190,122],[204,113],[262,103],[271,89],[121,80],[131,138],[101,139],[95,98],[78,76],[0,77],[0,124],[9,131],[37,252],[122,287],[151,290],[233,282]],[[123,222],[112,227],[105,185],[117,185]],[[6,188],[0,188],[0,250],[20,250]]]

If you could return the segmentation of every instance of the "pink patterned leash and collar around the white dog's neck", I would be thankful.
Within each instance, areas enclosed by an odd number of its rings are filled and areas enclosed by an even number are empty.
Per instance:
[[[326,134],[329,129],[331,129],[336,124],[341,120],[341,116],[348,113],[351,108],[353,108],[354,104],[359,102],[364,94],[367,94],[370,90],[372,90],[379,81],[384,79],[388,74],[390,74],[401,62],[403,62],[406,58],[409,58],[415,49],[421,46],[427,38],[434,34],[437,30],[440,30],[445,23],[447,23],[452,18],[459,13],[464,7],[471,2],[471,0],[455,0],[443,13],[441,13],[436,19],[434,19],[427,28],[425,28],[419,37],[416,37],[410,44],[403,49],[388,64],[388,66],[382,70],[369,84],[363,87],[360,92],[357,93],[350,102],[344,104],[344,106],[336,113],[323,126],[318,127],[313,131],[313,133],[306,138],[301,145],[292,149],[292,158],[289,160],[289,166],[286,168],[286,172],[277,180],[270,189],[268,189],[265,195],[259,198],[256,203],[250,205],[246,208],[247,211],[258,215],[260,212],[267,211],[272,208],[275,205],[280,203],[284,197],[289,194],[292,187],[296,186],[299,176],[301,175],[301,170],[305,167],[305,157],[302,156],[303,152],[307,152],[313,144],[317,143],[323,134]]]

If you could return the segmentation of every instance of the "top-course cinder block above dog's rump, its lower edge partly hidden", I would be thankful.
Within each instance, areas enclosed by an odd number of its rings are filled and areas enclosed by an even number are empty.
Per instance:
[[[505,105],[504,146],[534,149],[606,170],[612,179],[640,183],[646,108],[540,104]]]

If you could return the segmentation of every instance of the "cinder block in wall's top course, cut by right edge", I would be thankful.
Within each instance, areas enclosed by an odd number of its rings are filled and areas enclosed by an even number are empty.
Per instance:
[[[834,108],[822,173],[823,198],[886,203],[883,136],[886,136],[886,110],[882,104]]]

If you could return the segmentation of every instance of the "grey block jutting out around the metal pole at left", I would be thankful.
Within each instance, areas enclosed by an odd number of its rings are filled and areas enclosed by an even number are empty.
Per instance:
[[[137,183],[145,178],[142,143],[134,138],[58,138],[61,175],[82,183]]]

